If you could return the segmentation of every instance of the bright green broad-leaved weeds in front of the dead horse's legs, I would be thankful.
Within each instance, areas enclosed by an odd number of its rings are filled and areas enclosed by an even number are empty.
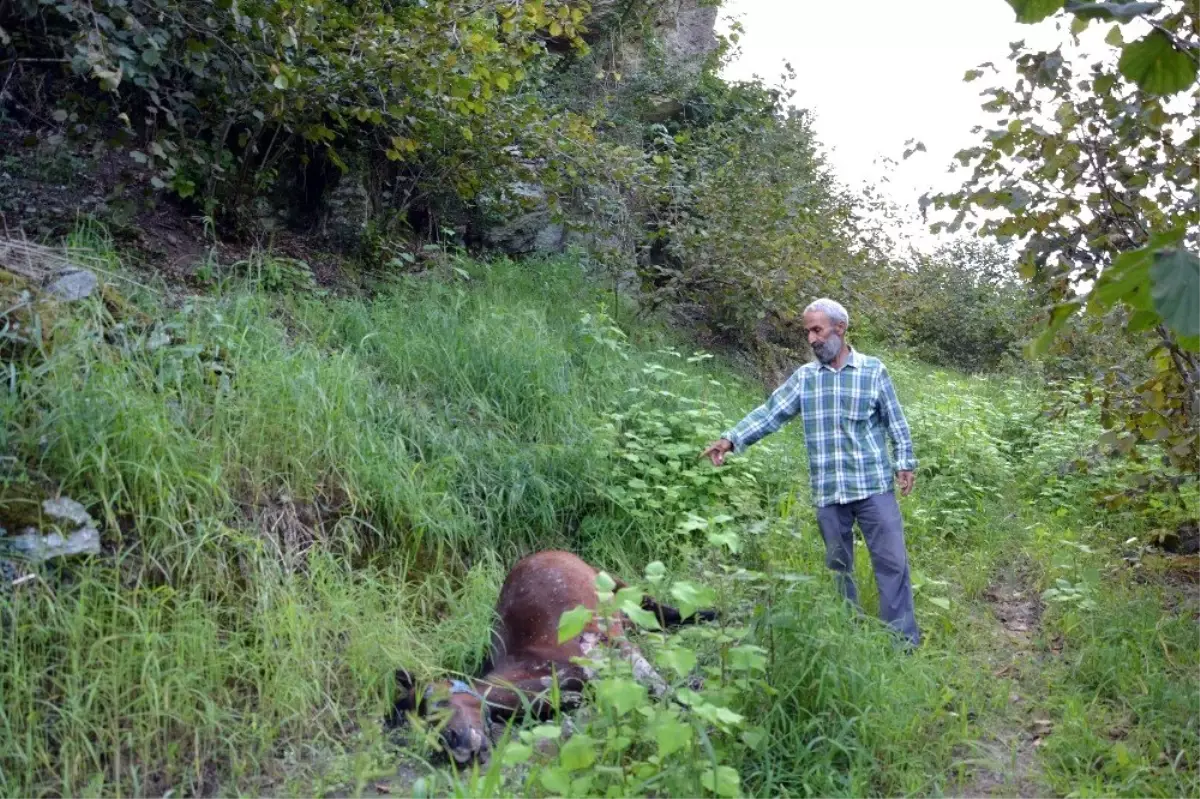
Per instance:
[[[712,587],[668,581],[659,561],[647,566],[644,579],[658,591],[666,589],[685,615],[721,605]],[[596,677],[569,732],[562,723],[509,731],[497,768],[520,765],[527,795],[742,795],[739,752],[760,746],[766,732],[737,708],[772,692],[767,650],[749,643],[748,627],[727,623],[664,635],[654,614],[641,607],[641,587],[616,590],[612,577],[601,572],[596,590],[594,612],[580,606],[559,619],[559,641],[578,635],[593,618],[604,629],[623,614],[667,683],[664,696],[653,697],[635,679],[630,660],[617,648],[598,647],[586,663]],[[502,777],[492,769],[475,779]]]

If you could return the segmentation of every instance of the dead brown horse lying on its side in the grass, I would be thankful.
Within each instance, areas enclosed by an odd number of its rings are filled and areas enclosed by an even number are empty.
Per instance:
[[[492,627],[492,648],[482,675],[469,683],[440,680],[424,692],[414,690],[408,672],[396,678],[403,696],[391,715],[398,723],[406,713],[446,719],[442,744],[460,764],[486,762],[491,752],[488,731],[528,709],[538,719],[553,713],[548,693],[558,678],[560,707],[577,707],[590,669],[571,662],[587,657],[600,643],[616,644],[634,663],[634,677],[661,696],[666,683],[623,635],[623,615],[608,620],[601,632],[592,619],[580,635],[558,643],[559,617],[580,605],[595,609],[596,570],[570,552],[548,549],[520,560],[500,588]],[[617,588],[624,583],[614,579]],[[643,597],[642,608],[654,613],[665,629],[716,618],[713,611],[700,611],[683,618],[678,609]]]

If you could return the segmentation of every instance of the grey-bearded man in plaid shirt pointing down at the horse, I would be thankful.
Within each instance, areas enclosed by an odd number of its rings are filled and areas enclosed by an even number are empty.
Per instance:
[[[846,343],[848,326],[846,308],[833,300],[821,299],[805,308],[804,330],[817,360],[796,370],[766,403],[701,457],[721,465],[727,452],[744,451],[799,414],[826,565],[834,571],[841,593],[857,606],[853,525],[858,522],[875,567],[880,614],[916,647],[920,631],[913,615],[904,522],[884,435],[895,445],[895,482],[905,495],[912,492],[917,459],[887,370],[878,359]]]

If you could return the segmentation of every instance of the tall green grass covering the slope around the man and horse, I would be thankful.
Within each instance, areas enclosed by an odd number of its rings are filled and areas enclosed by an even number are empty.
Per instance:
[[[74,244],[119,269],[95,232]],[[865,549],[866,614],[833,599],[798,431],[697,468],[760,392],[569,259],[458,266],[371,300],[122,287],[131,307],[82,304],[18,354],[0,516],[61,489],[107,552],[0,595],[0,793],[353,792],[395,769],[392,669],[472,671],[506,565],[550,546],[625,575],[707,564],[769,653],[778,693],[744,708],[766,739],[727,759],[761,795],[946,792],[974,743],[1042,716],[1056,793],[1198,787],[1198,627],[1152,557],[1120,557],[1145,519],[1094,507],[1116,467],[1060,469],[1086,413],[887,356],[922,459],[902,509],[926,645],[904,656]],[[722,513],[745,542],[725,565],[774,575],[766,593],[714,565]],[[1014,653],[985,589],[1018,567],[1094,602],[1046,601],[1036,668],[995,677]]]

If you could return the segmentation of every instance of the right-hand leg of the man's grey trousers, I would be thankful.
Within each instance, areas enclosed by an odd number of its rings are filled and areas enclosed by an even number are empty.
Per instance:
[[[880,615],[913,645],[920,643],[912,606],[912,578],[905,552],[904,518],[894,492],[875,494],[858,503],[858,527],[866,539],[880,589]]]

